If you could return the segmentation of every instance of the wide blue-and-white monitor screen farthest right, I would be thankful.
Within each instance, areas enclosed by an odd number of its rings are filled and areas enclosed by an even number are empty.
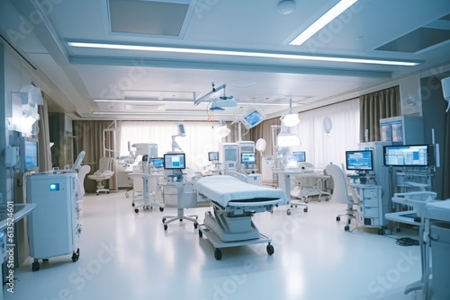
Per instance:
[[[428,166],[428,145],[384,146],[384,165],[402,167]]]

